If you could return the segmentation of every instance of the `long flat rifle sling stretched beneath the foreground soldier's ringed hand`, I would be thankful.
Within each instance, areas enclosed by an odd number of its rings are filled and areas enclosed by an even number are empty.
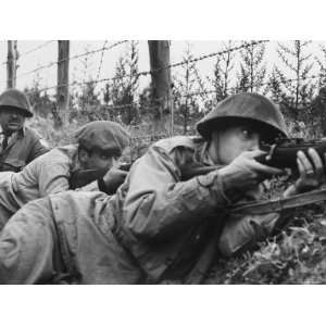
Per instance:
[[[277,198],[247,204],[236,204],[230,206],[230,213],[260,215],[300,208],[323,200],[326,200],[326,189],[304,192],[288,198]]]

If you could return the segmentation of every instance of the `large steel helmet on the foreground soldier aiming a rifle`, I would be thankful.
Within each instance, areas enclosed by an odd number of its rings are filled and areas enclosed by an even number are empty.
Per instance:
[[[197,125],[198,133],[211,138],[213,130],[229,122],[250,121],[269,140],[288,137],[284,116],[272,101],[258,93],[233,95],[221,101]]]

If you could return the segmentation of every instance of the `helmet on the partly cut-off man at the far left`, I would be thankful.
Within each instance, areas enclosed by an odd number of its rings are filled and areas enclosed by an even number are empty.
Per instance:
[[[18,109],[22,111],[22,114],[24,114],[27,117],[33,116],[29,101],[26,95],[21,90],[11,88],[3,91],[0,95],[0,110],[4,106],[9,109],[10,108]]]

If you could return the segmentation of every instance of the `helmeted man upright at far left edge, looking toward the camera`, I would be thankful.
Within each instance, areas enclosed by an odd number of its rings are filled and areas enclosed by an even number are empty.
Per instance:
[[[25,93],[9,89],[0,95],[0,171],[21,171],[49,150],[36,131],[24,126],[32,116]]]

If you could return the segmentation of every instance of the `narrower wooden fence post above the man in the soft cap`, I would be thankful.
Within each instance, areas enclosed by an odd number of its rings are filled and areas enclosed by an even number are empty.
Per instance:
[[[57,80],[57,114],[54,127],[61,127],[67,123],[70,103],[70,41],[58,41],[58,80]],[[55,112],[54,111],[54,112]]]

